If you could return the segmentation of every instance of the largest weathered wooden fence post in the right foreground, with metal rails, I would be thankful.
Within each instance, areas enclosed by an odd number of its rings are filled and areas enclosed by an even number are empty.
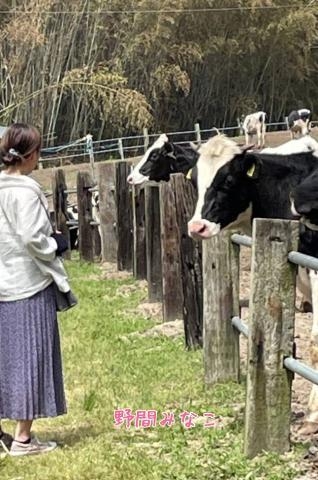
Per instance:
[[[298,222],[254,219],[244,449],[289,450]]]

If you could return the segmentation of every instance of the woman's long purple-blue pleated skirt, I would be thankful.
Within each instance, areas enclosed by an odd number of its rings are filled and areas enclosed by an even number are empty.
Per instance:
[[[34,420],[66,413],[52,285],[30,298],[0,302],[0,418]]]

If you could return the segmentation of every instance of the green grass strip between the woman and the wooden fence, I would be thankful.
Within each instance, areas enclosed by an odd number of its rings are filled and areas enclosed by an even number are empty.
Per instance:
[[[39,457],[0,460],[11,480],[219,480],[294,478],[297,450],[286,456],[243,455],[244,386],[203,382],[202,351],[183,338],[129,336],[156,324],[136,313],[146,291],[133,279],[103,280],[96,265],[68,262],[79,305],[60,314],[68,414],[34,423],[61,447]],[[128,293],[127,293],[128,292]],[[114,427],[114,410],[175,413],[171,427]],[[212,412],[223,428],[186,429],[178,415]],[[12,430],[11,422],[4,427]],[[294,466],[293,466],[294,465]]]

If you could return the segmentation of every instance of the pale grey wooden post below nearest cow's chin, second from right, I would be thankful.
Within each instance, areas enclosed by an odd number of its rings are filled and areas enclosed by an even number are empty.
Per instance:
[[[238,301],[233,300],[237,272],[232,268],[230,236],[231,232],[225,231],[203,242],[203,350],[207,385],[239,380],[239,334],[231,323],[238,312]]]

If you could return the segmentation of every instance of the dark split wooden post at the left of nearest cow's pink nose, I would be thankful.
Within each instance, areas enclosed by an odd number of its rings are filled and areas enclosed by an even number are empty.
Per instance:
[[[183,174],[172,175],[170,183],[180,233],[185,343],[188,348],[196,348],[202,346],[203,334],[202,244],[189,237],[188,221],[195,210],[197,193]]]

